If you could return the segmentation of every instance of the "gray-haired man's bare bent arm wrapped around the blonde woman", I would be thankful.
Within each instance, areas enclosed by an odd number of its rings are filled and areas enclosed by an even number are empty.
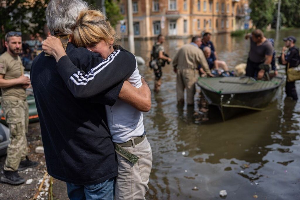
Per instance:
[[[125,81],[119,94],[119,99],[130,104],[141,112],[148,112],[151,109],[151,91],[144,78],[140,88],[132,86]]]

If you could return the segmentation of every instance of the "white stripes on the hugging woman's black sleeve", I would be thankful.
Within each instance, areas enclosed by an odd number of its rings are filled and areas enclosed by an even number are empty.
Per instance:
[[[120,50],[117,50],[116,52],[113,52],[112,55],[110,55],[109,58],[102,61],[98,66],[92,68],[87,74],[82,76],[82,73],[80,71],[77,71],[72,76],[70,76],[70,79],[76,84],[76,85],[86,85],[88,81],[94,79],[94,77],[101,72],[105,67],[107,67],[119,54]],[[103,66],[103,67],[101,67]],[[100,68],[101,67],[101,68]],[[100,69],[99,69],[100,68]]]

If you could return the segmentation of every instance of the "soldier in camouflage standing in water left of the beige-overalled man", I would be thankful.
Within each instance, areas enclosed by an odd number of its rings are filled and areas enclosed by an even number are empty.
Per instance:
[[[158,35],[157,37],[157,43],[154,44],[152,48],[152,54],[153,54],[153,59],[156,60],[157,63],[157,69],[154,69],[154,75],[155,75],[155,85],[154,85],[154,91],[159,92],[161,89],[161,76],[162,76],[162,71],[161,68],[164,67],[165,62],[171,62],[172,59],[165,56],[165,48],[163,46],[163,43],[165,41],[165,37],[163,35]]]

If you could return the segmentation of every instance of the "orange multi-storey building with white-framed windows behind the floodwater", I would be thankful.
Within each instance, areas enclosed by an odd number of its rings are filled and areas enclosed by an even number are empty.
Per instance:
[[[244,28],[247,9],[247,0],[133,0],[134,35],[189,37],[202,31],[231,32]],[[127,0],[120,2],[120,10],[126,25]]]

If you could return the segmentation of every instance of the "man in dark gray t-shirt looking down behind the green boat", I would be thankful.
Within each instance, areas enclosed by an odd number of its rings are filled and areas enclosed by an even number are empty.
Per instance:
[[[273,46],[260,29],[247,34],[245,39],[250,39],[250,51],[247,60],[246,76],[262,79],[265,70],[259,68],[261,64],[271,64]]]

